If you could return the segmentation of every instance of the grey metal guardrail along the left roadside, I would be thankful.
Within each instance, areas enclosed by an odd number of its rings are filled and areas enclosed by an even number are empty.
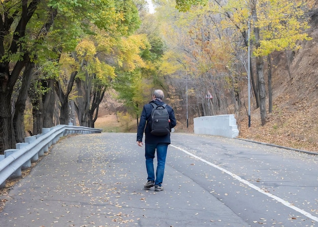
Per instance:
[[[24,138],[25,143],[17,143],[17,149],[5,150],[0,155],[0,188],[6,186],[6,180],[22,175],[21,170],[31,167],[39,157],[48,152],[49,147],[61,137],[71,134],[102,133],[102,129],[73,125],[57,125],[43,128],[42,134]]]

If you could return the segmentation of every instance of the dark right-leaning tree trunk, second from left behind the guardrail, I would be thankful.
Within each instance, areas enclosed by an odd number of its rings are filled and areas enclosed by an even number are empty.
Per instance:
[[[24,110],[27,99],[27,92],[30,88],[31,76],[35,67],[34,62],[27,62],[23,72],[21,89],[15,103],[15,111],[13,116],[13,127],[15,132],[15,142],[22,143],[25,137],[24,129]]]

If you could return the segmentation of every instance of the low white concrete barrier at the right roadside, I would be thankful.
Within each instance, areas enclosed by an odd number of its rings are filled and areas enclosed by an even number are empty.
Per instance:
[[[239,135],[234,114],[197,117],[194,119],[195,134],[235,138]]]

